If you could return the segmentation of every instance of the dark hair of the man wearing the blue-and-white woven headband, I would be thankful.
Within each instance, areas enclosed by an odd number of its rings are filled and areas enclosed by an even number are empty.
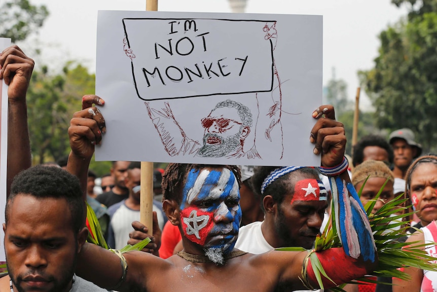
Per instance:
[[[288,179],[291,176],[296,174],[308,174],[315,179],[318,179],[318,172],[310,167],[300,168],[295,170],[294,172],[290,172],[286,175],[283,175],[276,179],[274,182],[269,184],[265,189],[264,193],[261,193],[261,186],[263,185],[264,180],[267,176],[274,170],[278,169],[278,166],[258,166],[253,170],[253,175],[250,178],[250,185],[254,193],[257,194],[261,198],[261,201],[264,199],[267,194],[273,197],[273,200],[278,204],[281,204],[284,200],[284,196],[286,193],[294,193],[294,185],[288,184]]]

